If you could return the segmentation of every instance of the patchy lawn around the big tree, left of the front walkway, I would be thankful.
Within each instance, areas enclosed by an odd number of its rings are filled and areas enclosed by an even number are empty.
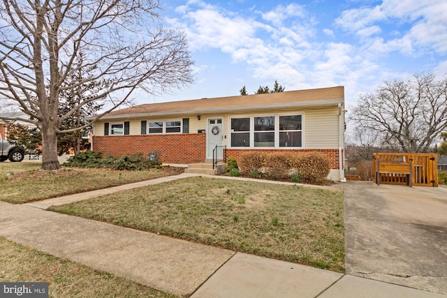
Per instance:
[[[17,163],[10,163],[15,166]],[[6,165],[4,163],[3,165]],[[24,170],[0,175],[0,200],[22,204],[62,195],[119,186],[179,174],[184,169],[163,167],[146,171],[64,168],[58,171]]]

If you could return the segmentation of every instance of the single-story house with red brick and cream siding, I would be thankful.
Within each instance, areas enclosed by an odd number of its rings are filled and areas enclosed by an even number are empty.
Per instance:
[[[329,179],[344,180],[344,87],[150,103],[115,110],[94,124],[94,151],[122,156],[156,151],[163,163],[203,163],[213,149],[319,151]]]

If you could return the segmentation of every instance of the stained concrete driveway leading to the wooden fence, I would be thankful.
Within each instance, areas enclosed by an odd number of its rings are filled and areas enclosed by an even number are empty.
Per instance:
[[[447,293],[447,187],[349,181],[346,273]]]

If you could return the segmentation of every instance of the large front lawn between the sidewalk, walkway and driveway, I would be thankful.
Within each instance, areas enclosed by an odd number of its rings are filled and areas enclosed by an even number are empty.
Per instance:
[[[343,192],[193,177],[53,211],[344,271]]]

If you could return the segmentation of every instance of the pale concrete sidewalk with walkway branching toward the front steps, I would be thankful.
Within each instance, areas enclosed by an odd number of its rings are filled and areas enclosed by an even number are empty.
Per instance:
[[[190,176],[22,205],[0,202],[0,236],[184,297],[447,297],[45,211],[52,204]]]

